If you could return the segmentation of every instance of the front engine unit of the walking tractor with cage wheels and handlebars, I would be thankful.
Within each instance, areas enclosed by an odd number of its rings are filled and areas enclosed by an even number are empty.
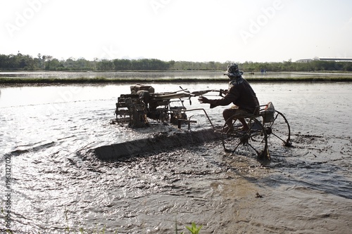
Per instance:
[[[122,94],[116,103],[116,122],[128,123],[131,128],[140,128],[149,126],[149,120],[153,119],[158,122],[166,123],[170,121],[172,124],[177,124],[180,128],[182,123],[187,123],[189,128],[195,120],[187,119],[186,112],[194,110],[206,110],[197,108],[187,110],[184,107],[184,98],[191,98],[200,96],[203,93],[208,93],[213,90],[189,92],[187,89],[180,87],[179,91],[155,93],[152,86],[145,86],[136,84],[130,86],[130,94]],[[220,92],[220,91],[219,91]],[[174,103],[181,103],[180,105],[173,105]],[[206,114],[206,117],[208,115]],[[208,120],[213,126],[210,118]]]

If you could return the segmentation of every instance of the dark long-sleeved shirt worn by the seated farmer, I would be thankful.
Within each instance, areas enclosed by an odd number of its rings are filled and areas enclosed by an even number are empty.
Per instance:
[[[224,98],[209,100],[209,103],[210,108],[215,108],[218,105],[229,105],[230,103],[234,103],[239,109],[246,110],[249,113],[253,113],[259,105],[256,93],[254,93],[246,79],[243,79],[243,82],[240,84],[233,84]]]

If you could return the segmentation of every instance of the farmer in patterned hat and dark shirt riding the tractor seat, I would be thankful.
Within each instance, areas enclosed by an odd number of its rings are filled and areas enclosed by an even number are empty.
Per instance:
[[[210,108],[215,108],[218,105],[229,105],[233,103],[234,106],[231,108],[225,109],[222,112],[222,116],[225,121],[229,119],[234,114],[258,114],[259,102],[254,93],[252,87],[249,83],[242,77],[244,72],[239,71],[239,67],[236,63],[231,63],[227,66],[227,71],[224,75],[230,78],[229,90],[225,90],[225,97],[218,100],[209,100],[204,96],[198,98],[200,103],[209,103]],[[244,131],[249,130],[249,126],[246,124],[244,118],[239,118],[239,122],[243,125]],[[227,129],[225,132],[232,131],[231,122],[227,123]]]

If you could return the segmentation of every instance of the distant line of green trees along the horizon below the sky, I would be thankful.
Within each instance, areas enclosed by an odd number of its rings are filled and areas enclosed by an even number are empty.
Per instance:
[[[94,59],[68,58],[58,60],[52,56],[43,56],[40,53],[36,58],[18,53],[16,55],[0,54],[0,70],[51,70],[51,71],[80,71],[80,70],[226,70],[230,62],[189,62],[163,61],[155,58],[130,59]],[[352,71],[351,62],[335,62],[313,60],[309,63],[294,63],[291,60],[282,63],[239,63],[239,69],[245,72],[290,72],[290,71]]]

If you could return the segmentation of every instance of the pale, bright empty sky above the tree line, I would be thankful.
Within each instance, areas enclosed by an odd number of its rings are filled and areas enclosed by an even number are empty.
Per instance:
[[[352,58],[351,0],[0,0],[0,54],[59,60]]]

